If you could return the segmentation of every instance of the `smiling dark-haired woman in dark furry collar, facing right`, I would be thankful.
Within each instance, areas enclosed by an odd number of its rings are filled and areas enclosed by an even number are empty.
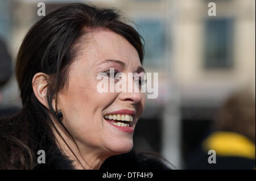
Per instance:
[[[133,148],[144,93],[96,86],[110,68],[142,70],[142,38],[120,19],[111,9],[71,4],[27,33],[16,60],[23,107],[0,121],[1,169],[100,169]],[[37,162],[39,150],[46,163]]]

